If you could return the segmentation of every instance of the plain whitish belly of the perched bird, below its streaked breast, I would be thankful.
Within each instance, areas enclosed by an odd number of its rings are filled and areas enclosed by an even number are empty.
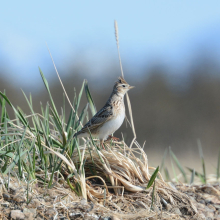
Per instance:
[[[99,129],[98,138],[105,140],[108,136],[118,130],[125,118],[125,112],[121,112],[116,118],[109,120],[103,124],[103,126]]]

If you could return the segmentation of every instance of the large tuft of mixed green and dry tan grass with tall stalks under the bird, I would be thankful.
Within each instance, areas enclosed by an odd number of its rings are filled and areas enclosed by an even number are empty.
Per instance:
[[[119,52],[117,22],[115,22],[115,33],[121,73],[124,76]],[[74,120],[78,120],[77,123],[82,124],[77,115],[77,109],[73,108],[68,98],[55,64],[54,67],[72,111],[76,113]],[[42,72],[41,76],[50,94],[48,83]],[[4,97],[4,95],[2,96]],[[96,140],[83,139],[82,145],[74,142],[73,134],[76,131],[73,127],[67,129],[68,125],[65,124],[64,120],[65,112],[58,115],[52,96],[50,98],[52,103],[50,113],[49,106],[47,106],[45,115],[35,114],[30,98],[29,105],[33,112],[32,115],[25,116],[17,112],[11,105],[15,110],[17,119],[15,121],[8,119],[1,124],[1,136],[4,137],[4,142],[1,143],[0,151],[7,149],[4,152],[6,155],[9,152],[8,150],[12,148],[15,150],[13,156],[5,159],[2,167],[16,161],[10,170],[6,169],[4,170],[5,174],[2,174],[3,191],[7,191],[5,186],[10,187],[9,180],[14,180],[12,176],[17,175],[20,176],[20,179],[17,179],[18,182],[28,183],[27,186],[24,184],[23,188],[26,187],[30,198],[34,197],[37,192],[36,184],[41,189],[54,187],[54,191],[57,191],[57,186],[63,185],[65,188],[68,186],[70,187],[69,191],[72,189],[79,197],[92,201],[96,207],[95,212],[100,214],[100,210],[102,210],[105,216],[114,214],[124,219],[134,219],[134,217],[178,219],[178,215],[170,211],[174,208],[178,208],[182,214],[189,216],[197,214],[197,209],[189,197],[167,184],[160,172],[157,175],[158,178],[155,179],[154,187],[152,185],[147,189],[152,173],[156,168],[149,166],[146,153],[136,141],[128,94],[126,94],[126,100],[130,125],[134,135],[133,140],[130,146],[124,141],[106,142],[106,150],[100,150]],[[33,121],[35,129],[29,127],[29,123],[26,121],[28,119]],[[10,139],[9,137],[13,138]],[[18,147],[13,146],[16,142],[20,142]],[[73,144],[75,147],[72,147]],[[8,149],[8,147],[12,148]],[[44,162],[43,167],[45,169],[41,166],[42,162]],[[57,166],[59,163],[60,166]],[[38,164],[37,171],[35,164]],[[65,201],[61,199],[62,202],[59,204],[62,206],[65,204],[67,207],[69,203],[66,199],[73,202],[73,199],[70,199],[71,193],[65,193],[65,191],[62,193],[68,196],[64,196]],[[42,205],[47,207],[46,204]]]

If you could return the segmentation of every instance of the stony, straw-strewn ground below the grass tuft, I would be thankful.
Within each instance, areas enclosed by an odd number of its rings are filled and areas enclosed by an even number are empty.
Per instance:
[[[165,201],[161,207],[151,206],[146,192],[112,196],[108,200],[86,201],[67,186],[57,184],[52,189],[33,185],[27,188],[16,182],[8,189],[0,185],[0,219],[204,219],[220,220],[220,185],[172,184],[186,194],[197,213],[184,206]]]

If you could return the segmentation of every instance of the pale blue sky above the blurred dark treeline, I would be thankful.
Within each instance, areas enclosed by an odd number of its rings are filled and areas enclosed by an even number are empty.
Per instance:
[[[220,57],[219,9],[218,0],[3,1],[0,69],[12,82],[34,85],[38,66],[52,68],[47,42],[58,70],[82,59],[99,74],[109,60],[118,62],[115,19],[123,62],[185,67],[200,48]]]

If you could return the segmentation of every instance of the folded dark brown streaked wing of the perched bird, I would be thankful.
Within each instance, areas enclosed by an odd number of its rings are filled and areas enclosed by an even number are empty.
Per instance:
[[[106,104],[101,110],[99,110],[85,125],[84,127],[77,132],[76,135],[88,132],[91,133],[100,127],[103,123],[108,121],[113,115],[112,106]]]

